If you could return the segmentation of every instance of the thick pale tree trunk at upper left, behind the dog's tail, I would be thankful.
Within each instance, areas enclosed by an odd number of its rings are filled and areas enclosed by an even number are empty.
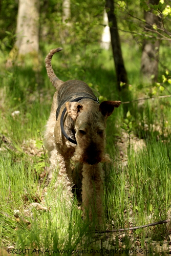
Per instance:
[[[39,0],[19,0],[15,43],[18,55],[38,53],[38,22]]]

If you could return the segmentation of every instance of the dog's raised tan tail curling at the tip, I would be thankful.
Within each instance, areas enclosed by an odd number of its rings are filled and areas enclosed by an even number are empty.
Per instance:
[[[55,52],[60,52],[62,50],[62,48],[56,48],[56,49],[53,49],[51,50],[48,55],[46,56],[46,59],[45,59],[45,63],[46,63],[46,70],[47,70],[47,73],[48,73],[48,76],[49,76],[49,79],[51,81],[51,83],[53,84],[53,86],[57,89],[60,84],[62,84],[62,80],[60,80],[54,73],[53,69],[52,69],[52,64],[51,64],[51,60],[52,60],[52,57],[54,55]]]

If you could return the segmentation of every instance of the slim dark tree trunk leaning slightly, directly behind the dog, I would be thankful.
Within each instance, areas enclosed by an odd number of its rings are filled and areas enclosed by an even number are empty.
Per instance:
[[[111,44],[117,75],[117,84],[118,89],[121,90],[120,82],[127,83],[127,73],[123,63],[120,38],[114,8],[114,0],[105,0],[105,9],[108,13],[108,20],[111,32]]]

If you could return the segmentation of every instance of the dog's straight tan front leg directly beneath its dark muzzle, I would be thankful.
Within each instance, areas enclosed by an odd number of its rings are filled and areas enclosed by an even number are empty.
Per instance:
[[[103,170],[101,164],[83,163],[82,168],[82,204],[84,216],[90,220],[98,219],[102,224],[103,219]]]

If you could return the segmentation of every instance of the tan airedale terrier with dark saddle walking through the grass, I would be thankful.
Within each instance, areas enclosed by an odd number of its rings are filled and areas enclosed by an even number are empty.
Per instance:
[[[106,119],[118,108],[120,101],[103,101],[99,104],[92,89],[83,81],[58,79],[52,69],[51,59],[62,48],[47,55],[46,69],[56,88],[45,132],[45,146],[49,152],[49,178],[57,167],[57,184],[71,202],[72,187],[77,175],[82,176],[82,205],[84,216],[90,219],[103,214],[103,170],[100,162],[110,161],[105,150]],[[72,168],[72,163],[77,167]],[[77,173],[75,170],[77,169]]]

